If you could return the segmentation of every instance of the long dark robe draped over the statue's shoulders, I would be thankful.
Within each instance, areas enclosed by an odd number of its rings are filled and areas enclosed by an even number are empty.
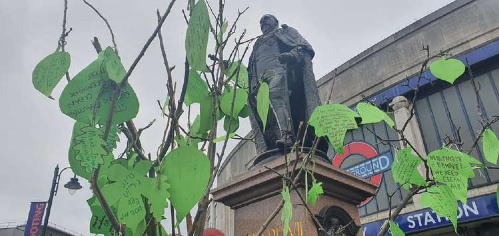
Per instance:
[[[293,63],[286,65],[286,80],[289,92],[290,114],[292,119],[292,131],[296,137],[300,121],[304,122],[303,129],[314,111],[321,105],[319,92],[315,83],[315,76],[312,69],[312,58],[315,55],[312,46],[305,40],[300,33],[287,25],[282,25],[275,32],[272,32],[273,37],[276,37],[280,53],[288,52],[295,58]],[[256,152],[258,154],[277,148],[275,142],[280,139],[281,131],[277,124],[276,117],[272,111],[269,112],[265,132],[263,132],[263,124],[257,115],[256,96],[258,91],[258,74],[256,51],[261,46],[261,38],[259,38],[253,47],[253,51],[248,63],[248,76],[250,82],[250,97],[249,105],[252,110],[250,122],[253,132],[253,137],[256,142]],[[277,57],[276,57],[277,60]],[[261,63],[261,62],[260,62]],[[301,140],[302,135],[299,139]],[[308,128],[305,139],[305,147],[310,147],[314,140],[313,127]],[[327,152],[327,141],[322,140],[319,144],[319,150]]]

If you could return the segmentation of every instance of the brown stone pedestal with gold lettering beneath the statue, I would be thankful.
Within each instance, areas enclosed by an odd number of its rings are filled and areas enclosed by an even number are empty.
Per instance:
[[[306,154],[303,154],[306,155]],[[294,154],[289,155],[289,171],[294,166]],[[348,225],[343,236],[355,236],[360,227],[357,205],[364,199],[374,196],[377,186],[358,178],[344,170],[334,168],[331,163],[322,159],[313,159],[307,169],[314,172],[315,178],[322,182],[324,194],[320,196],[317,205],[309,207],[321,221],[324,228]],[[298,160],[295,173],[298,173],[301,159]],[[234,236],[256,236],[258,230],[268,216],[275,210],[282,199],[282,178],[274,173],[286,172],[285,158],[282,156],[255,167],[249,173],[237,176],[226,185],[212,191],[213,200],[221,202],[234,209]],[[308,176],[309,187],[312,178]],[[306,198],[305,177],[299,181],[298,191]],[[293,219],[290,223],[289,236],[317,236],[317,227],[308,215],[296,191],[291,191],[293,202]],[[351,223],[350,223],[351,222]],[[268,225],[264,236],[282,236],[283,225],[280,213]]]

